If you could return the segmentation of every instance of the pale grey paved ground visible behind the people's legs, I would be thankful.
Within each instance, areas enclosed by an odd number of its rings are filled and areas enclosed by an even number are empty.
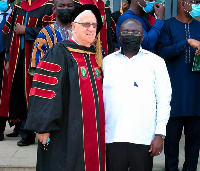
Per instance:
[[[6,127],[5,134],[12,132],[12,129]],[[20,137],[8,138],[0,141],[0,171],[34,171],[36,165],[37,143],[27,147],[17,146]],[[37,142],[37,141],[36,141]],[[180,142],[179,168],[182,168],[184,162],[184,136]],[[154,158],[154,171],[164,170],[164,154]],[[200,171],[200,158],[198,164]]]

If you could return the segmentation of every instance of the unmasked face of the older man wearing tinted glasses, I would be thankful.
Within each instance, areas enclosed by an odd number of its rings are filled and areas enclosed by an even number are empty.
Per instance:
[[[97,20],[93,13],[83,13],[78,22],[72,23],[73,34],[78,39],[77,42],[89,47],[96,37]]]

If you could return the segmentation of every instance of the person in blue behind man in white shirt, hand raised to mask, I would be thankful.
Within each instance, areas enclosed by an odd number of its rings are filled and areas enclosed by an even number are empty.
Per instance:
[[[144,17],[145,13],[155,11],[157,19],[153,26]],[[129,9],[124,12],[118,19],[116,26],[117,38],[120,33],[121,24],[127,19],[133,18],[138,20],[143,26],[144,39],[142,41],[143,49],[156,53],[156,43],[158,41],[160,30],[163,27],[164,21],[164,7],[161,3],[156,3],[153,0],[131,0]],[[120,40],[118,38],[118,46],[121,47]]]

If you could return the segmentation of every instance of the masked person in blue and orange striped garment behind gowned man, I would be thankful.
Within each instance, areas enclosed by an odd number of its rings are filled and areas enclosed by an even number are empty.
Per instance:
[[[53,45],[72,37],[71,14],[73,10],[73,0],[54,0],[53,11],[56,15],[56,22],[39,32],[33,46],[31,70],[35,70],[39,61]]]

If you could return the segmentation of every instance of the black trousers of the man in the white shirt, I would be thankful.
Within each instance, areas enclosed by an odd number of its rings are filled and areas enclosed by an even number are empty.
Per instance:
[[[149,145],[126,142],[106,144],[107,171],[152,171]]]

